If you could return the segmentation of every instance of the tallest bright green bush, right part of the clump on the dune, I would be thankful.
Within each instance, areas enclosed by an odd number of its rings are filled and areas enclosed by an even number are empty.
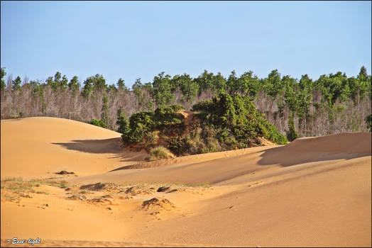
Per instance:
[[[192,106],[193,111],[201,111],[198,117],[204,125],[217,130],[221,147],[251,147],[258,145],[258,136],[278,144],[285,144],[286,138],[256,111],[248,96],[221,93],[212,101],[206,100]]]

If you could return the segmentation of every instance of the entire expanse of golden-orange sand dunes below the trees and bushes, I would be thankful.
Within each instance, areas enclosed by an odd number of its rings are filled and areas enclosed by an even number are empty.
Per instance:
[[[61,133],[48,131],[62,121]],[[21,122],[37,124],[28,130]],[[45,135],[38,126],[47,130]],[[28,132],[31,136],[23,137]],[[69,191],[43,185],[38,188],[48,195],[29,193],[33,198],[16,202],[8,201],[6,194],[12,193],[2,188],[1,246],[9,245],[6,239],[11,237],[40,237],[43,246],[371,246],[371,133],[302,138],[286,146],[200,154],[148,169],[107,172],[138,160],[131,159],[136,152],[119,152],[107,140],[117,137],[71,120],[1,120],[1,177],[31,171],[36,176],[48,164],[60,169],[60,159],[70,164],[67,169],[80,171],[77,177],[64,176]],[[17,139],[34,147],[33,153],[14,145]],[[19,162],[20,154],[32,158],[24,160],[32,167]],[[72,163],[77,157],[80,162]],[[98,159],[102,162],[92,166]],[[80,186],[97,182],[117,186],[82,193]],[[131,186],[143,192],[126,193]],[[159,186],[177,191],[156,192]],[[87,199],[67,199],[74,194]],[[105,195],[109,203],[92,203]],[[153,197],[167,198],[174,206],[141,208]]]

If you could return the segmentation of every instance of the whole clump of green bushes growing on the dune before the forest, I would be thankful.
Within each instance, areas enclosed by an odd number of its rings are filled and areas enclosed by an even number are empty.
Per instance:
[[[177,155],[221,152],[262,144],[262,138],[278,145],[288,142],[265,115],[256,110],[249,96],[221,93],[212,100],[192,106],[192,118],[185,118],[182,106],[163,106],[154,112],[134,113],[127,120],[121,115],[119,130],[124,145],[150,150],[147,160]],[[160,146],[163,142],[170,151]],[[155,148],[154,148],[155,147]]]

